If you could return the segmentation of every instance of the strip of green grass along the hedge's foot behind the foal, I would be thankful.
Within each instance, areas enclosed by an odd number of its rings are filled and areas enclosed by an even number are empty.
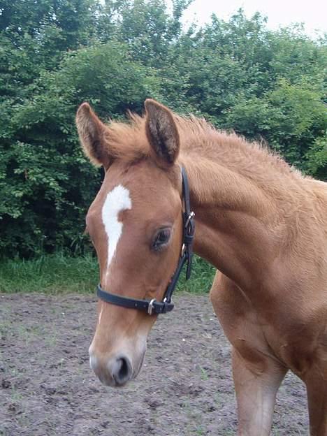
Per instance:
[[[182,272],[177,291],[207,293],[215,268],[194,256],[191,279]],[[61,253],[38,259],[4,260],[0,263],[0,292],[94,293],[99,281],[97,259],[92,254],[73,257]]]

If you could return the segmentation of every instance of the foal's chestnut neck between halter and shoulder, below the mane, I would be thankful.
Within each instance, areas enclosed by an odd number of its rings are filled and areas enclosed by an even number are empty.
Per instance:
[[[196,213],[194,251],[243,289],[257,286],[255,281],[277,256],[284,237],[284,190],[273,198],[276,180],[268,177],[265,187],[260,172],[258,180],[245,177],[237,165],[228,168],[191,156],[181,164],[189,174]]]

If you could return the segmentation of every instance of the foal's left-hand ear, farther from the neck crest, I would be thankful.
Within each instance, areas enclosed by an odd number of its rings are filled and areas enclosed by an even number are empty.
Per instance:
[[[82,148],[89,160],[94,165],[108,168],[110,156],[105,140],[108,127],[96,116],[89,103],[82,103],[78,108],[76,126]]]

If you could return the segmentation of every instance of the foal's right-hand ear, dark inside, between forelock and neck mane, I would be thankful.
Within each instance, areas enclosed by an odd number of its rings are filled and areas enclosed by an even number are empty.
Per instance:
[[[145,100],[145,129],[159,166],[175,163],[180,151],[180,136],[172,112],[152,99]]]

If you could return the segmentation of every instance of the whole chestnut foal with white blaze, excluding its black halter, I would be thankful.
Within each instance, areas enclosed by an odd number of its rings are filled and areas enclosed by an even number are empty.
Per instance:
[[[87,213],[104,291],[160,301],[180,258],[182,181],[196,213],[194,251],[217,268],[210,298],[232,345],[239,435],[270,434],[287,370],[307,387],[310,434],[327,435],[327,184],[205,121],[153,100],[129,124],[87,103],[78,133],[106,177]],[[89,348],[101,382],[126,384],[157,319],[99,301]]]

